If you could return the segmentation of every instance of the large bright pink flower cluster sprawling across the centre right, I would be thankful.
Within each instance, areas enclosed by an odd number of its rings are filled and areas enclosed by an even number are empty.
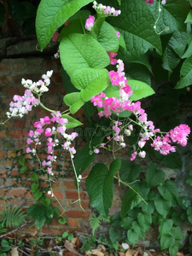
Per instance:
[[[116,54],[110,53],[111,59],[113,59]],[[103,108],[98,114],[100,117],[105,116],[109,117],[112,113],[119,115],[122,111],[130,111],[133,113],[137,119],[135,122],[139,125],[141,131],[139,133],[139,139],[137,145],[135,145],[135,150],[131,154],[131,161],[135,160],[137,154],[144,158],[146,152],[142,150],[144,145],[148,140],[152,140],[151,146],[154,150],[160,151],[160,154],[169,154],[170,152],[175,152],[176,147],[172,146],[171,143],[178,143],[182,146],[187,144],[188,136],[190,133],[190,128],[188,125],[179,125],[171,130],[169,133],[166,133],[166,136],[162,136],[160,129],[155,129],[154,123],[148,120],[148,114],[145,113],[145,110],[141,108],[141,102],[132,102],[129,98],[132,94],[130,85],[126,84],[127,79],[125,78],[124,63],[121,60],[113,59],[113,63],[117,64],[117,72],[110,71],[108,73],[111,84],[119,86],[119,97],[108,97],[105,93],[100,95],[93,96],[90,100],[94,106]],[[130,119],[131,120],[131,119]],[[131,136],[133,131],[133,125],[130,122],[125,125],[122,122],[115,121],[113,124],[113,140],[119,144],[120,148],[125,148],[125,135],[127,137]],[[103,143],[101,144],[101,148]],[[99,153],[99,149],[94,150],[95,153]]]

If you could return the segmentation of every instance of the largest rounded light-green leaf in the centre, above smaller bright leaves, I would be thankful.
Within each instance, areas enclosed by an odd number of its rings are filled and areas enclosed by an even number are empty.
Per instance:
[[[60,44],[61,64],[69,76],[78,69],[103,68],[110,63],[102,45],[90,35],[69,34]]]

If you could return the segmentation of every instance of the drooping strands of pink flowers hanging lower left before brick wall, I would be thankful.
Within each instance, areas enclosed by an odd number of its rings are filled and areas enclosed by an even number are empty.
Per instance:
[[[65,138],[66,142],[62,144],[62,148],[67,149],[71,157],[73,158],[76,153],[75,148],[71,145],[74,138],[78,137],[77,132],[73,132],[72,134],[67,134],[66,124],[68,120],[61,117],[60,112],[51,113],[52,118],[49,119],[49,116],[45,116],[41,118],[38,122],[34,123],[35,131],[29,132],[29,137],[26,140],[28,145],[32,144],[31,148],[26,148],[26,153],[36,154],[37,146],[41,144],[40,136],[44,134],[44,137],[47,137],[47,159],[42,162],[42,166],[47,167],[47,172],[50,175],[53,175],[52,172],[52,164],[56,159],[54,155],[55,146],[59,145],[60,141],[58,139],[58,135]],[[48,125],[50,127],[48,127]]]

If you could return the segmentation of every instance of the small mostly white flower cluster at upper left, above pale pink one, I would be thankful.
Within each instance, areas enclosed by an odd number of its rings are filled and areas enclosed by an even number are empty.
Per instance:
[[[21,84],[29,90],[32,90],[32,92],[35,92],[37,94],[42,94],[45,91],[48,91],[48,86],[50,84],[50,77],[53,74],[53,70],[48,71],[46,74],[43,74],[42,79],[38,80],[38,82],[32,82],[31,79],[22,79]]]

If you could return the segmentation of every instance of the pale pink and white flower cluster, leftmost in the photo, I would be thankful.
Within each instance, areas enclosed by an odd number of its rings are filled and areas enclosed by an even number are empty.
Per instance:
[[[33,106],[38,105],[38,99],[35,98],[31,90],[25,90],[24,96],[15,95],[13,102],[9,103],[8,118],[20,116],[20,118],[29,111],[32,111]]]

